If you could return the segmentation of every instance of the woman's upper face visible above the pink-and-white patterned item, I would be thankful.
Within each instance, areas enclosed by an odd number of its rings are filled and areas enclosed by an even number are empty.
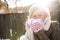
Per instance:
[[[32,18],[34,19],[42,19],[44,21],[45,19],[45,13],[41,10],[35,10],[32,14]]]

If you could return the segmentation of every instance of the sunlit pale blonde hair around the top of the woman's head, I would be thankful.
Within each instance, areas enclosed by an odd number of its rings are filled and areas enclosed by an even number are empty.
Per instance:
[[[39,6],[39,5],[32,5],[32,6],[30,7],[30,9],[29,9],[28,19],[30,19],[30,18],[32,17],[33,12],[34,12],[35,10],[37,10],[37,9],[40,9],[40,10],[42,10],[42,11],[45,11],[45,12],[46,12],[46,15],[47,15],[49,18],[51,18],[51,16],[50,16],[50,11],[49,11],[48,8],[42,7],[42,6]],[[45,15],[45,16],[46,16],[46,15]]]

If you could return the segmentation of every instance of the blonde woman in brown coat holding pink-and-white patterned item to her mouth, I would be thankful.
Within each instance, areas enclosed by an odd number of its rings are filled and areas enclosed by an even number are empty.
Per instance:
[[[58,27],[51,26],[52,21],[48,8],[39,5],[33,5],[29,9],[29,15],[27,19],[28,20],[25,23],[25,29],[29,36],[23,36],[21,39],[27,38],[27,40],[52,40],[51,34],[54,30],[58,29]],[[30,25],[32,22],[35,23]]]

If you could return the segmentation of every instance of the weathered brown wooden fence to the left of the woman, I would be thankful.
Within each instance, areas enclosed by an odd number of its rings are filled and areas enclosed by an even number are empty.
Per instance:
[[[17,40],[25,33],[24,22],[27,14],[0,14],[0,37]],[[12,29],[12,36],[10,35]]]

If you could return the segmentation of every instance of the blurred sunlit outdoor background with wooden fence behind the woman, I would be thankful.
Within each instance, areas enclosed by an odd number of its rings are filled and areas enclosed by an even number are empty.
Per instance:
[[[28,10],[36,3],[48,7],[60,27],[60,0],[0,0],[0,40],[19,40],[25,33]]]

